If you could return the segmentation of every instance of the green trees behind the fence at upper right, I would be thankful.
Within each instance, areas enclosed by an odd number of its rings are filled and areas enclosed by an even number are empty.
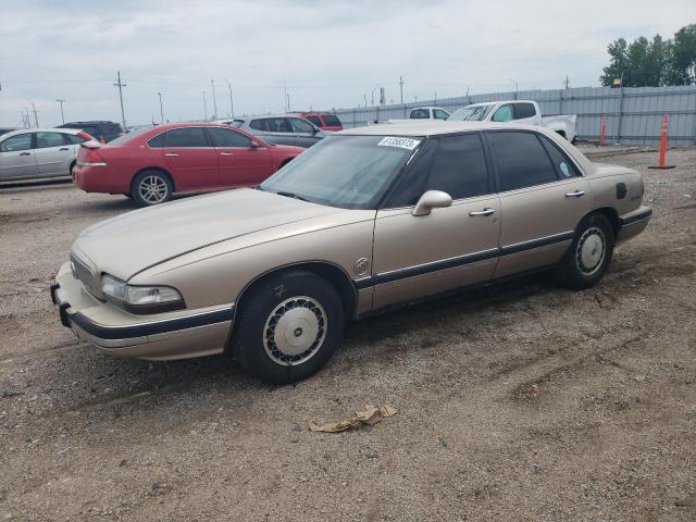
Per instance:
[[[696,24],[682,27],[667,40],[660,35],[652,40],[642,36],[631,44],[619,38],[609,44],[607,52],[610,62],[599,77],[604,86],[696,85]]]

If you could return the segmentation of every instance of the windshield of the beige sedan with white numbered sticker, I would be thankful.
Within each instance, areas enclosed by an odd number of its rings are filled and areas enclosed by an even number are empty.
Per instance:
[[[376,209],[421,137],[332,136],[263,182],[261,190],[343,209]]]

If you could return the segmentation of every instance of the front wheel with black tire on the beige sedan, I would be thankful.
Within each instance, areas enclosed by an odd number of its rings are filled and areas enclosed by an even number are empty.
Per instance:
[[[310,272],[281,272],[250,289],[233,334],[233,355],[247,372],[270,384],[316,373],[343,335],[338,294]]]

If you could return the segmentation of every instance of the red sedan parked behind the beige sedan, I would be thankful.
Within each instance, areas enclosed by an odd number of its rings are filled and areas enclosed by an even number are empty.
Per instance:
[[[82,144],[74,179],[87,192],[123,194],[151,206],[175,192],[258,185],[303,151],[266,144],[228,125],[173,123],[107,145]]]

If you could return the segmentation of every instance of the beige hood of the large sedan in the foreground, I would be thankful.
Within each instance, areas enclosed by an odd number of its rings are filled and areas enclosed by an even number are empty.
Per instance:
[[[73,252],[124,281],[169,259],[343,209],[253,189],[198,196],[128,212],[85,229]]]

